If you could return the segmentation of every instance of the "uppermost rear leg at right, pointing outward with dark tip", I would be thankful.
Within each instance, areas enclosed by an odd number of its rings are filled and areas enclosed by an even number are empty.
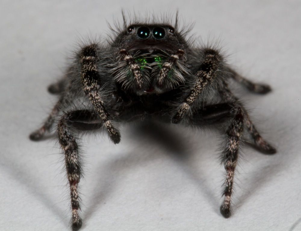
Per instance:
[[[244,78],[240,74],[238,74],[236,71],[230,69],[231,73],[231,78],[234,79],[235,81],[239,82],[242,84],[244,87],[246,87],[249,91],[252,91],[254,93],[258,94],[266,94],[270,91],[272,91],[271,87],[267,84],[258,84],[258,83],[253,83],[250,80]]]

